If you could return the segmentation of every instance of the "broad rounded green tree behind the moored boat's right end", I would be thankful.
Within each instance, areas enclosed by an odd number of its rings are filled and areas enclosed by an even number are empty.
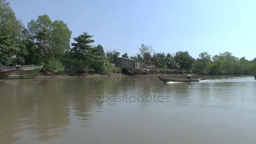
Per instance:
[[[38,59],[36,63],[61,61],[69,49],[71,31],[63,21],[51,21],[49,16],[38,16],[37,20],[28,23],[27,35],[34,43],[31,51]],[[34,49],[34,50],[33,50]],[[30,55],[31,56],[31,55]]]

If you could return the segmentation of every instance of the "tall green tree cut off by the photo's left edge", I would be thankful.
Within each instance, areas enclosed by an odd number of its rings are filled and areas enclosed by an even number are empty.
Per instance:
[[[15,64],[26,54],[22,32],[24,26],[16,18],[9,3],[0,0],[0,62]]]

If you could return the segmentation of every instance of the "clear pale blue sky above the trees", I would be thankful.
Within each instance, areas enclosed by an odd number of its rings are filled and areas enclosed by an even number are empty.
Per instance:
[[[7,0],[25,25],[39,15],[64,21],[72,37],[94,35],[94,45],[128,56],[141,44],[155,52],[229,51],[256,57],[256,0]],[[71,40],[74,42],[74,40]]]

